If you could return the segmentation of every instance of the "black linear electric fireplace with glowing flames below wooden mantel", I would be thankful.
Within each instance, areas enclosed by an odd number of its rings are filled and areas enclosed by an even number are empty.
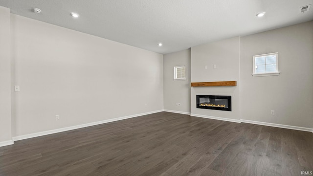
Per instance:
[[[231,96],[197,95],[197,108],[231,111]]]

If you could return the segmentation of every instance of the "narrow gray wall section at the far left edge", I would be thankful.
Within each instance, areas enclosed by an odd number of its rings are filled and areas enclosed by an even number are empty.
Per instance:
[[[0,6],[0,145],[11,135],[10,9]]]

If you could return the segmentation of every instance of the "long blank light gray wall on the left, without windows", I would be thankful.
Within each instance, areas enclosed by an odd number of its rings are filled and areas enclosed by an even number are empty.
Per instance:
[[[163,110],[162,54],[14,14],[11,22],[14,136]]]

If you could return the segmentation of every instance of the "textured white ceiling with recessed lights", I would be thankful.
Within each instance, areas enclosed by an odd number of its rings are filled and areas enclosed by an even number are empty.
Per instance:
[[[11,13],[162,54],[313,20],[313,9],[299,10],[308,4],[313,0],[0,0]]]

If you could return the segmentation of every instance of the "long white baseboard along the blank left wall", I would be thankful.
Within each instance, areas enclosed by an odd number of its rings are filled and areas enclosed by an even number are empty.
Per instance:
[[[43,135],[53,134],[53,133],[57,133],[57,132],[66,132],[69,130],[75,130],[75,129],[94,126],[94,125],[100,125],[100,124],[104,124],[104,123],[114,122],[114,121],[118,121],[118,120],[129,119],[129,118],[133,118],[133,117],[153,114],[153,113],[162,112],[162,111],[164,111],[164,110],[155,110],[155,111],[150,111],[150,112],[144,112],[144,113],[140,113],[140,114],[134,114],[134,115],[124,116],[124,117],[117,117],[117,118],[113,118],[113,119],[91,122],[91,123],[82,124],[82,125],[65,127],[65,128],[55,129],[55,130],[48,130],[45,132],[35,132],[35,133],[31,133],[31,134],[15,136],[15,137],[12,137],[12,139],[13,139],[13,141],[18,141],[18,140],[28,139],[28,138],[32,138],[32,137],[39,137],[39,136],[43,136]],[[10,144],[8,144],[8,145],[10,145]]]

